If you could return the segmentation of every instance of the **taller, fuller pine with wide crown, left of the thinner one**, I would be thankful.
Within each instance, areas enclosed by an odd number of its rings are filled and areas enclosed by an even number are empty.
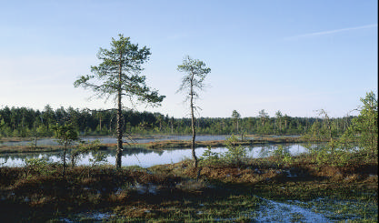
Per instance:
[[[146,46],[139,48],[132,44],[129,37],[119,35],[112,38],[111,48],[100,48],[97,58],[102,61],[99,66],[91,66],[92,75],[80,76],[74,83],[77,86],[92,89],[99,97],[115,97],[117,110],[117,153],[115,167],[121,167],[123,151],[123,97],[145,102],[151,106],[160,106],[165,96],[159,96],[145,84],[145,76],[141,76],[142,65],[151,55]]]

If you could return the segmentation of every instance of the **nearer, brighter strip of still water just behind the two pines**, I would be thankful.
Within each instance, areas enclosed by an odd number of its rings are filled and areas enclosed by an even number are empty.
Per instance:
[[[300,144],[281,145],[284,151],[292,155],[298,155],[308,152],[308,149]],[[259,147],[247,147],[247,155],[249,157],[269,157],[273,154],[278,145],[264,145]],[[195,149],[198,157],[202,156],[205,147],[198,147]],[[212,148],[213,152],[224,153],[227,151],[226,147]],[[103,151],[106,153],[106,163],[115,164],[115,150]],[[25,158],[41,158],[47,157],[52,162],[59,162],[62,157],[60,152],[50,152],[41,154],[5,154],[0,157],[0,167],[23,167],[25,166]],[[171,164],[182,161],[185,158],[192,157],[192,150],[188,148],[171,148],[167,150],[147,150],[141,147],[126,147],[123,152],[122,164],[123,166],[141,166],[152,167],[155,165]],[[76,165],[90,165],[90,159],[94,158],[93,154],[89,153],[82,155],[76,161]]]

